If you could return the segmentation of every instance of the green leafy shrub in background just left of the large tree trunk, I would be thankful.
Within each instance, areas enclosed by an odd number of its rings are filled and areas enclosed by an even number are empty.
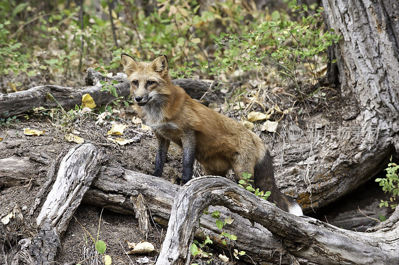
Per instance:
[[[318,64],[326,62],[324,52],[340,36],[333,29],[323,32],[322,7],[312,14],[307,5],[297,5],[296,0],[289,1],[288,6],[299,10],[301,21],[290,21],[286,15],[275,11],[271,20],[254,25],[247,33],[221,33],[215,37],[215,62],[209,73],[218,75],[235,69],[243,72],[258,71],[273,64],[277,73],[295,84],[303,100],[299,75],[308,70],[304,68],[301,73],[298,64],[306,63],[317,83]]]

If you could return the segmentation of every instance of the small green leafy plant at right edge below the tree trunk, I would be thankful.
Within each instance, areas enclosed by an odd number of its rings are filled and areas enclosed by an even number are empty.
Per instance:
[[[385,193],[392,193],[390,202],[386,200],[381,200],[380,207],[388,207],[390,206],[392,209],[395,209],[398,206],[398,203],[395,203],[398,199],[399,194],[399,165],[392,162],[392,156],[390,159],[390,163],[388,167],[384,169],[387,171],[385,178],[376,178],[376,182],[379,182],[380,186]]]

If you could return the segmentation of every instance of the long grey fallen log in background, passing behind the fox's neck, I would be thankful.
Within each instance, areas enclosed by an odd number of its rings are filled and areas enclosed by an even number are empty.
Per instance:
[[[92,86],[82,88],[71,88],[54,85],[43,85],[28,90],[17,91],[9,94],[0,93],[0,116],[12,117],[14,115],[32,111],[33,108],[55,108],[58,104],[64,109],[74,108],[82,103],[82,96],[86,93],[94,99],[97,105],[104,105],[115,100],[115,97],[107,91],[101,91],[101,84],[97,83],[103,77],[92,68],[87,70],[86,82]],[[130,84],[124,74],[119,73],[110,80],[119,83],[114,85],[118,96],[127,98],[130,94]],[[214,90],[217,82],[202,81],[195,79],[179,79],[172,81],[174,85],[181,86],[193,98],[200,98],[208,89]],[[208,93],[205,100],[216,101],[220,92]],[[50,96],[51,95],[51,96]],[[54,100],[55,99],[55,100]],[[5,115],[4,115],[5,113]]]

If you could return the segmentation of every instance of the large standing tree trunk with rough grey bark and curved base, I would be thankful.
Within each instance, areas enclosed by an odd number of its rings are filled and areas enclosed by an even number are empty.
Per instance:
[[[288,193],[296,190],[305,209],[325,206],[365,183],[399,151],[399,2],[323,5],[328,28],[343,37],[334,46],[342,101],[330,105],[336,109],[331,115],[304,121],[321,135],[308,131],[295,145],[276,146],[284,154],[277,181]],[[290,180],[295,184],[287,185]]]

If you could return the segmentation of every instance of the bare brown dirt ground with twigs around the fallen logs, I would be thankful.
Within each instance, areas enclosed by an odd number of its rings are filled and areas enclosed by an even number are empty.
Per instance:
[[[335,117],[332,121],[339,123],[342,119],[342,113],[346,115],[353,115],[357,110],[353,109],[351,105],[342,104],[342,99],[337,97],[339,92],[335,90],[327,90],[327,96],[332,98],[326,104],[326,101],[315,99],[308,101],[307,104],[295,107],[293,113],[298,113],[301,108],[307,110],[306,115],[311,113],[323,112],[324,115]],[[292,101],[289,97],[282,100],[277,94],[272,94],[269,98],[271,102],[282,102],[280,108],[287,109],[292,106]],[[346,106],[347,111],[337,109],[331,105]],[[254,106],[261,108],[259,106]],[[348,114],[349,113],[349,114]],[[240,110],[227,112],[227,115],[235,120],[239,120]],[[277,114],[276,114],[277,115]],[[132,118],[134,114],[130,111],[122,112],[120,115],[123,120],[120,123],[128,124],[125,130],[124,138],[138,139],[135,143],[127,145],[117,145],[107,141],[107,132],[111,129],[111,121],[116,119],[113,115],[112,119],[108,120],[105,124],[96,125],[96,119],[93,117],[82,116],[77,119],[73,125],[74,129],[79,132],[78,136],[85,139],[86,142],[92,142],[106,148],[110,161],[121,163],[125,168],[151,174],[154,170],[155,152],[156,152],[156,139],[150,130],[142,130],[141,124],[134,124]],[[0,179],[0,217],[8,214],[17,204],[23,216],[23,220],[19,223],[13,224],[14,230],[6,231],[6,227],[2,226],[1,233],[4,236],[0,237],[0,243],[4,252],[10,250],[12,247],[13,253],[17,251],[17,243],[20,239],[32,237],[36,228],[33,219],[28,216],[28,211],[32,207],[36,194],[40,186],[44,183],[48,165],[57,156],[62,155],[72,146],[76,145],[75,142],[68,142],[65,140],[65,133],[59,128],[51,125],[51,119],[46,115],[29,115],[26,120],[23,117],[18,117],[19,123],[11,123],[6,127],[0,127],[0,177],[4,177],[2,173],[7,171],[9,179]],[[301,119],[299,115],[287,116],[284,119],[294,119],[299,124]],[[284,121],[284,120],[283,120]],[[35,130],[46,130],[40,136],[27,136],[23,133],[23,128],[30,128]],[[257,132],[260,134],[260,132]],[[76,133],[75,133],[76,134]],[[266,144],[275,142],[277,137],[272,134],[261,135]],[[115,136],[114,136],[115,138]],[[278,140],[277,140],[278,141]],[[273,153],[272,153],[273,154]],[[16,162],[19,161],[19,162]],[[165,164],[163,177],[168,180],[174,181],[179,178],[182,172],[182,150],[175,144],[171,144],[168,152],[168,159]],[[19,172],[17,175],[12,175],[9,172],[15,169]],[[21,175],[20,173],[23,172]],[[197,174],[201,174],[200,167],[197,168]],[[15,180],[16,179],[16,180]],[[90,205],[80,205],[74,214],[71,222],[69,223],[66,233],[62,237],[56,262],[58,264],[76,264],[94,255],[94,244],[90,239],[97,237],[98,224],[100,214],[102,212],[102,220],[98,238],[103,240],[107,245],[106,254],[111,255],[115,264],[141,264],[141,258],[148,257],[150,261],[154,261],[157,253],[159,252],[162,242],[166,233],[166,228],[162,228],[153,224],[153,230],[146,239],[139,231],[137,220],[128,215],[118,214],[101,208],[93,207]],[[323,215],[315,216],[325,221]],[[10,222],[14,222],[11,220]],[[17,222],[17,221],[15,221]],[[8,225],[8,227],[12,227]],[[6,234],[6,235],[5,235]],[[141,241],[149,241],[154,244],[158,252],[153,252],[150,255],[126,255],[127,242],[139,243]],[[219,253],[212,251],[213,255],[218,256]],[[4,255],[0,253],[0,264],[4,264]],[[197,263],[201,264],[205,260],[198,260]],[[82,264],[102,264],[101,261],[95,258],[88,259]]]

